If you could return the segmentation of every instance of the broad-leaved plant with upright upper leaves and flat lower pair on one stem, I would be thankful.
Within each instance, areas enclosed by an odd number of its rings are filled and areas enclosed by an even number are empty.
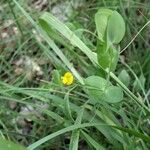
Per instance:
[[[97,60],[102,71],[116,69],[120,41],[125,34],[125,23],[122,16],[117,11],[110,9],[99,9],[95,14],[95,24],[98,34],[97,39]],[[106,77],[107,78],[107,77]],[[109,80],[100,76],[90,76],[85,80],[87,93],[96,102],[100,100],[116,103],[123,99],[123,91],[119,86],[113,86]]]

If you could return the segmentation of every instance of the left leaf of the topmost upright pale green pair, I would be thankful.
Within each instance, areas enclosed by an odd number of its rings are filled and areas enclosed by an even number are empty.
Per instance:
[[[113,11],[110,9],[99,9],[95,14],[96,30],[98,33],[98,37],[102,42],[106,41],[105,36],[108,18],[112,14],[112,12]]]

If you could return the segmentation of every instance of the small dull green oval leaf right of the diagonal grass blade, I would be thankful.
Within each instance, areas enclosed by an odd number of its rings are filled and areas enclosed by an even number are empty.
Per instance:
[[[131,78],[126,70],[123,69],[120,72],[118,78],[125,86],[127,86],[127,87],[129,86]]]

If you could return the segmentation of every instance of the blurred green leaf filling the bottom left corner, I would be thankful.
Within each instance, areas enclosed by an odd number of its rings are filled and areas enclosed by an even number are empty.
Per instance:
[[[21,145],[15,144],[11,141],[0,139],[0,149],[1,150],[26,150]]]

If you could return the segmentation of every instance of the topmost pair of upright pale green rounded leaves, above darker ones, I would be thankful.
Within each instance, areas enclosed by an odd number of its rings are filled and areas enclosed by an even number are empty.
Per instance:
[[[99,9],[95,14],[96,29],[101,42],[119,44],[125,34],[125,23],[117,11]]]

